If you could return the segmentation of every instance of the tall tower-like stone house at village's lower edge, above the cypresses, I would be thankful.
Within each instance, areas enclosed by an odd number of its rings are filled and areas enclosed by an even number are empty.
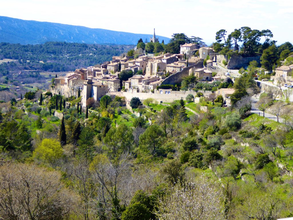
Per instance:
[[[83,83],[83,91],[81,96],[82,106],[86,107],[86,100],[93,97],[94,100],[100,101],[100,98],[108,93],[108,86],[103,85],[100,82],[93,82],[91,79],[87,79]]]

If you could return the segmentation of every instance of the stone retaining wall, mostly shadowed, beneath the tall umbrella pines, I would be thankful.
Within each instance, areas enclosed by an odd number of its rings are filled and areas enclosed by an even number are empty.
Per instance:
[[[260,55],[250,57],[248,55],[232,54],[229,60],[228,56],[226,55],[217,55],[217,63],[221,66],[224,66],[223,60],[226,60],[228,62],[228,65],[226,66],[227,69],[240,69],[241,67],[247,67],[249,65],[249,62],[253,60],[256,60],[256,62],[260,63]]]

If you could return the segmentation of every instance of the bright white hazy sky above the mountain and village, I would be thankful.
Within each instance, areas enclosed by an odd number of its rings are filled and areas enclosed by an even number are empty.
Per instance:
[[[197,36],[248,26],[270,29],[274,40],[293,43],[293,0],[9,0],[0,15],[132,33]]]

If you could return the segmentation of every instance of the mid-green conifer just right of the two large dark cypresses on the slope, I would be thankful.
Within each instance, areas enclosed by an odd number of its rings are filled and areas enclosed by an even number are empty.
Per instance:
[[[94,151],[94,133],[90,127],[82,128],[81,134],[79,135],[78,153],[84,156],[86,160],[92,159]]]

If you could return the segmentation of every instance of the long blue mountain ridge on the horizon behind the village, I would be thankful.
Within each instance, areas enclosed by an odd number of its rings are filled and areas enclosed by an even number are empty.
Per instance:
[[[149,30],[152,33],[152,30]],[[41,44],[47,41],[65,41],[74,43],[113,43],[137,44],[139,38],[143,41],[151,34],[134,34],[120,31],[110,31],[100,28],[87,28],[67,24],[26,21],[17,18],[0,16],[0,42],[20,44]],[[159,41],[168,43],[170,38],[158,36]]]

